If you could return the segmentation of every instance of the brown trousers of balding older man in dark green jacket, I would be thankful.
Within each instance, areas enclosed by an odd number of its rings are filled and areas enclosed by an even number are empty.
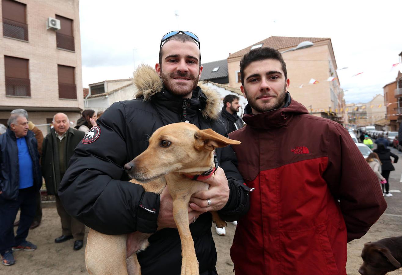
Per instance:
[[[55,195],[55,197],[57,213],[59,214],[60,220],[62,221],[62,235],[73,235],[74,240],[84,240],[84,224],[82,222],[79,222],[76,218],[70,216],[66,212],[66,209],[64,209],[59,196]]]

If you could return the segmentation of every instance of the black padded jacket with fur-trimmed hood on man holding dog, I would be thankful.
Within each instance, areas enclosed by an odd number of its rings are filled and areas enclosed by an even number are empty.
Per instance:
[[[126,234],[136,230],[155,233],[160,197],[127,182],[124,164],[148,147],[148,138],[164,125],[188,120],[201,129],[227,135],[218,117],[219,95],[207,86],[182,99],[165,90],[158,74],[149,66],[134,76],[137,99],[114,103],[98,119],[100,134],[88,144],[79,144],[59,189],[66,210],[90,228],[104,234]],[[205,90],[204,90],[205,89]],[[201,111],[200,111],[201,109]],[[88,132],[89,133],[89,132]],[[236,220],[249,208],[248,187],[240,176],[231,147],[217,149],[219,166],[229,181],[230,197],[219,211]],[[150,213],[139,207],[154,208]],[[214,270],[216,250],[211,235],[211,214],[199,216],[190,225],[200,273]],[[149,238],[150,246],[138,254],[142,274],[180,274],[181,245],[177,229],[165,228]]]

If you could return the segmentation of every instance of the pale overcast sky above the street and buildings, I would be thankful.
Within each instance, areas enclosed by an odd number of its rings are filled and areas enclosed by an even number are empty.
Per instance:
[[[271,35],[329,37],[338,69],[348,67],[338,70],[345,100],[368,102],[402,71],[402,64],[392,68],[402,51],[402,1],[368,2],[81,0],[83,86],[129,78],[141,63],[154,66],[160,39],[173,30],[199,37],[201,63]]]

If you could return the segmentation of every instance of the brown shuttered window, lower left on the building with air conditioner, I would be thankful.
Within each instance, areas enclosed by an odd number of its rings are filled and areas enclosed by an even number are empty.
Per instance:
[[[31,96],[29,60],[4,56],[6,96]]]

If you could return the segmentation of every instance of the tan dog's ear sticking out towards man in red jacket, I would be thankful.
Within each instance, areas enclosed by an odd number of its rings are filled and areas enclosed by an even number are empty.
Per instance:
[[[225,147],[229,144],[240,144],[238,140],[231,140],[223,135],[218,134],[212,129],[198,130],[194,134],[195,148],[197,150],[212,151],[217,147]]]

